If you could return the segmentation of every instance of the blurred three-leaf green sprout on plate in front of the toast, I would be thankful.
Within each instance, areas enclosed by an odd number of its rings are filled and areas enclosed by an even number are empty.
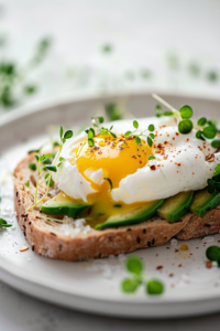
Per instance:
[[[148,295],[162,295],[164,285],[157,279],[151,279],[144,274],[144,264],[139,256],[130,256],[124,263],[125,269],[131,274],[130,278],[125,278],[121,288],[125,293],[132,293],[141,286],[145,286]]]

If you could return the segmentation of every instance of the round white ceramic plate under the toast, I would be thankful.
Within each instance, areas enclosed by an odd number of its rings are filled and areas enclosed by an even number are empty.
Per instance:
[[[220,102],[186,96],[164,96],[176,107],[193,106],[196,116],[220,118]],[[136,117],[154,115],[151,95],[130,95],[68,102],[44,109],[24,109],[0,118],[0,175],[2,215],[13,226],[0,231],[0,279],[31,296],[85,311],[128,318],[162,318],[210,313],[220,310],[220,269],[207,269],[205,252],[220,246],[220,235],[185,242],[188,252],[167,243],[163,247],[136,252],[143,257],[148,276],[164,281],[163,296],[152,298],[141,287],[135,295],[123,295],[120,282],[127,276],[125,256],[88,263],[66,263],[37,256],[26,245],[13,215],[13,182],[7,173],[29,149],[45,140],[48,125],[78,126],[109,102],[125,100]],[[38,136],[38,137],[37,137]],[[163,268],[157,268],[162,266]]]

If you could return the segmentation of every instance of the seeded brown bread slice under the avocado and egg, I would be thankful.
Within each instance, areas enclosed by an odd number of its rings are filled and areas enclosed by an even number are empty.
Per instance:
[[[174,236],[189,239],[220,231],[220,209],[217,207],[204,217],[187,213],[175,223],[154,216],[132,226],[75,234],[74,224],[40,218],[47,216],[40,212],[40,206],[25,214],[25,210],[34,202],[36,185],[36,171],[29,168],[30,163],[35,163],[33,153],[22,160],[14,170],[14,205],[19,225],[32,250],[45,257],[64,260],[108,257],[139,248],[162,246]],[[24,185],[28,181],[29,188]],[[40,185],[38,199],[45,191],[45,184]],[[53,189],[50,193],[45,201],[53,197],[56,190]],[[50,217],[57,218],[51,215]]]

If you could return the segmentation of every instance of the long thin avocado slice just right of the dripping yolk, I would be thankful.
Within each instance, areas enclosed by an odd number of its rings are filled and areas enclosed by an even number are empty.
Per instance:
[[[132,211],[110,216],[105,223],[96,225],[95,228],[102,229],[107,227],[139,224],[151,218],[163,202],[164,200],[152,201],[144,206],[135,207]]]

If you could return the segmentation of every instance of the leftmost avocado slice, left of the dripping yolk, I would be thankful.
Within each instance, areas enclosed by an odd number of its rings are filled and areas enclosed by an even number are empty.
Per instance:
[[[68,217],[78,216],[89,204],[74,202],[70,197],[58,193],[41,206],[41,211],[48,215],[66,215]]]

